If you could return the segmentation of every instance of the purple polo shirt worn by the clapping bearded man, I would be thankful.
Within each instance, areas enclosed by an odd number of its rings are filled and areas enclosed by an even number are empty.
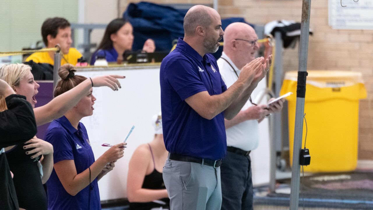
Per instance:
[[[201,117],[185,99],[202,91],[218,95],[227,90],[214,56],[200,56],[182,38],[160,68],[163,139],[167,151],[217,160],[226,154],[223,112],[211,120]]]

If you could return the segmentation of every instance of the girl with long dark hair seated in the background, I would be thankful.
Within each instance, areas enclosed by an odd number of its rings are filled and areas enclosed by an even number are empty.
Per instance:
[[[132,49],[133,41],[134,35],[131,23],[122,18],[112,20],[107,25],[104,37],[93,53],[90,64],[94,64],[97,56],[105,56],[107,62],[116,62],[118,57],[122,60],[123,53]],[[142,51],[151,53],[155,49],[154,41],[149,38],[145,41]]]

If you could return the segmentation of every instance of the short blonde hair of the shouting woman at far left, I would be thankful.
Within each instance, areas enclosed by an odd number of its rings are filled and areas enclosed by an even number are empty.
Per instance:
[[[6,81],[13,89],[29,74],[31,67],[26,64],[8,64],[0,68],[0,79]],[[7,109],[4,96],[0,96],[0,111]]]

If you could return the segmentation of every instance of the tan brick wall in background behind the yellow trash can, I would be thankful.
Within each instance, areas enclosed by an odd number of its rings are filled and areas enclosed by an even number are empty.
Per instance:
[[[120,13],[128,3],[120,1]],[[153,3],[212,4],[212,0],[153,0]],[[373,30],[334,30],[328,25],[327,0],[312,0],[308,70],[359,71],[364,76],[367,99],[360,101],[359,159],[373,160]],[[285,19],[301,21],[301,0],[219,0],[222,18],[244,17],[253,24]],[[298,69],[298,50],[283,52],[285,70]],[[343,113],[341,113],[343,114]]]

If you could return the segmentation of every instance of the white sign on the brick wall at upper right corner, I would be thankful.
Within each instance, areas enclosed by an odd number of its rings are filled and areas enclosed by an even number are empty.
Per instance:
[[[373,30],[372,0],[329,0],[328,7],[332,28]]]

